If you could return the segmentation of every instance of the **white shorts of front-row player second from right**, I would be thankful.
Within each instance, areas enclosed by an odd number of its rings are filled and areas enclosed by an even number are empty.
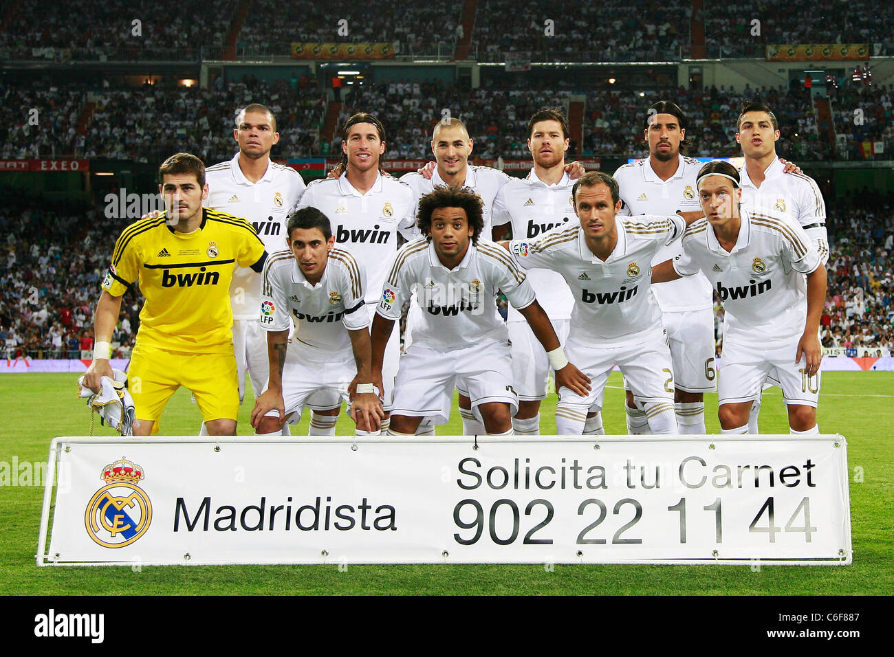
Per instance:
[[[569,337],[565,354],[569,362],[590,377],[590,393],[580,397],[568,388],[559,389],[559,399],[572,404],[602,410],[605,383],[616,364],[628,382],[636,401],[669,401],[673,403],[674,376],[671,350],[663,329],[651,329],[637,333],[637,337],[622,344],[593,346],[597,342],[582,344]]]

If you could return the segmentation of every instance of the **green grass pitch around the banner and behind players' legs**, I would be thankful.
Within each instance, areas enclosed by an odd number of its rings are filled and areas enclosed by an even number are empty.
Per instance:
[[[74,375],[5,375],[0,461],[45,461],[59,435],[86,435],[89,411],[76,399]],[[620,375],[605,395],[606,432],[623,434]],[[717,397],[706,400],[709,433],[719,433]],[[555,432],[555,397],[546,400],[544,434]],[[251,434],[247,403],[239,434]],[[178,392],[165,411],[164,434],[197,434],[198,407]],[[823,376],[822,433],[848,439],[854,563],[849,567],[557,565],[223,566],[38,568],[35,553],[43,486],[0,486],[0,594],[746,594],[867,595],[894,590],[894,373],[830,372]],[[787,433],[778,388],[766,391],[764,433]],[[295,435],[306,435],[305,414]],[[96,434],[111,434],[97,420]],[[338,434],[351,434],[342,417]],[[438,434],[460,434],[454,410]]]

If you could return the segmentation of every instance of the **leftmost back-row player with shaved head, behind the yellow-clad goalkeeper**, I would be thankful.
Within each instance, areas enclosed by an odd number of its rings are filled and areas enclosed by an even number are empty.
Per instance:
[[[236,116],[232,136],[239,144],[239,152],[232,160],[206,170],[207,206],[248,219],[267,253],[282,250],[289,212],[304,193],[301,174],[270,160],[270,150],[280,135],[276,118],[265,105],[246,105]],[[246,367],[256,397],[267,384],[266,335],[257,322],[260,299],[261,277],[248,268],[237,267],[232,276],[230,303],[240,403],[245,396]]]

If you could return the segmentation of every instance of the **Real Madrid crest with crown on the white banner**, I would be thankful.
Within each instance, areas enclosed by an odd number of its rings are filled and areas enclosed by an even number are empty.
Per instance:
[[[122,457],[105,466],[99,477],[105,485],[87,505],[87,533],[103,547],[130,545],[152,522],[152,502],[137,485],[145,477],[143,468]]]

